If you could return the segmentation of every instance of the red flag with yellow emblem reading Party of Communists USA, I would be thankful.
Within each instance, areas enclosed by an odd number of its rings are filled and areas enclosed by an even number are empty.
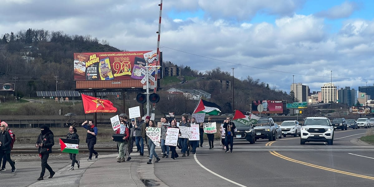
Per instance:
[[[82,95],[83,109],[85,113],[105,112],[114,113],[117,112],[117,108],[113,106],[113,103],[106,99],[98,99],[89,95]]]

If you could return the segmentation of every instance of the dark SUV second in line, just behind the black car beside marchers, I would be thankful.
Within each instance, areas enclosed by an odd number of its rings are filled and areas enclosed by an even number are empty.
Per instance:
[[[255,130],[255,140],[268,138],[269,141],[276,140],[274,120],[271,117],[260,117],[253,128]]]

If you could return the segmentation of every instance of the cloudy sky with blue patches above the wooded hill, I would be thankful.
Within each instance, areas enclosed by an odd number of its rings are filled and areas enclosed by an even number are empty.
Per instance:
[[[1,0],[0,34],[43,28],[156,50],[159,3]],[[374,84],[373,7],[373,0],[163,0],[160,50],[164,61],[202,72],[235,68],[238,79],[287,93],[292,82],[321,91],[331,77],[358,90]]]

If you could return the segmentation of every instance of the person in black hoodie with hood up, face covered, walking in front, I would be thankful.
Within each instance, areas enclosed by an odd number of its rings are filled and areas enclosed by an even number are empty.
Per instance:
[[[39,157],[42,159],[42,172],[40,172],[40,177],[38,178],[38,180],[43,180],[46,168],[48,169],[50,174],[48,178],[52,178],[53,175],[55,175],[55,172],[47,163],[49,153],[52,153],[52,146],[55,145],[55,141],[53,140],[53,132],[49,129],[48,126],[40,126],[40,131],[41,133],[39,134],[35,147],[39,148]]]

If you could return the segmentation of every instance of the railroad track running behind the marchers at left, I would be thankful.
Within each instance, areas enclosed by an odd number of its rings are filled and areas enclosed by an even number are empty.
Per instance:
[[[117,147],[95,147],[95,151],[98,152],[117,152]],[[79,153],[88,153],[87,147],[79,148]],[[38,148],[13,148],[12,154],[37,154]],[[60,148],[52,148],[52,153],[50,154],[67,154],[61,152]]]

